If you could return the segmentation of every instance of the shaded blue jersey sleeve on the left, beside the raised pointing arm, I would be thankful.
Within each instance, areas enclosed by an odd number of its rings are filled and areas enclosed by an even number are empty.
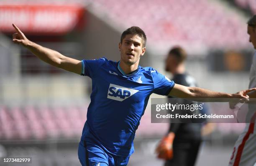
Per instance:
[[[97,74],[99,67],[107,61],[106,58],[99,58],[94,60],[82,60],[82,72],[81,75],[94,77]]]

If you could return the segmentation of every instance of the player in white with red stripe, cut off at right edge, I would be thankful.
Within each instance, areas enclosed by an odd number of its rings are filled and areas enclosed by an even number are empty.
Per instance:
[[[256,15],[250,18],[247,22],[247,33],[249,35],[249,42],[252,43],[256,49]],[[256,87],[256,53],[253,55],[249,88]],[[249,94],[250,98],[256,98],[256,93]],[[233,106],[231,106],[233,108]],[[230,157],[229,166],[255,166],[256,164],[256,106],[250,104],[249,111],[252,110],[253,115],[249,115],[249,121],[243,133],[238,137]]]

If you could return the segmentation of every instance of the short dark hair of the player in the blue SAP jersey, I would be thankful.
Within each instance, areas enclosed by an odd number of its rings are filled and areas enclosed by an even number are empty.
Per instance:
[[[142,40],[142,47],[146,46],[147,37],[141,28],[132,26],[132,27],[128,28],[127,30],[123,31],[123,33],[121,35],[121,43],[123,43],[123,39],[125,38],[126,35],[138,35]]]

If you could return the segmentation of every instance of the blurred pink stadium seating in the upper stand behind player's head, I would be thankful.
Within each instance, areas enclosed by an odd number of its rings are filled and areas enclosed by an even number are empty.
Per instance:
[[[248,2],[256,3],[255,0]],[[91,3],[123,27],[140,26],[148,40],[156,45],[197,44],[222,48],[225,44],[226,48],[244,48],[248,44],[248,36],[244,33],[246,25],[240,16],[228,13],[219,3],[205,0],[160,0],[150,3],[148,0],[95,0]],[[126,8],[120,10],[122,6]],[[141,12],[144,10],[146,12]]]

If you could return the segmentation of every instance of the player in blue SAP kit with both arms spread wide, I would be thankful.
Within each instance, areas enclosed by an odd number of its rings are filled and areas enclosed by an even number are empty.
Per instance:
[[[249,89],[235,94],[174,84],[157,70],[139,66],[146,51],[146,35],[131,27],[121,35],[120,61],[106,58],[75,60],[31,42],[13,25],[13,42],[22,44],[39,59],[92,79],[91,103],[87,111],[79,161],[83,166],[126,166],[133,153],[133,139],[151,93],[179,98],[243,98]]]

